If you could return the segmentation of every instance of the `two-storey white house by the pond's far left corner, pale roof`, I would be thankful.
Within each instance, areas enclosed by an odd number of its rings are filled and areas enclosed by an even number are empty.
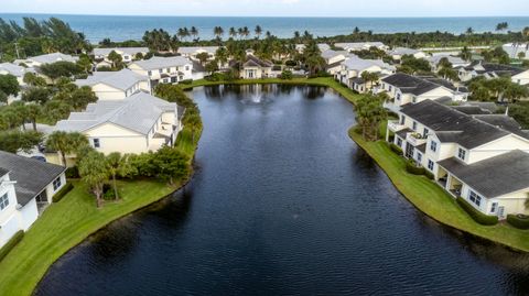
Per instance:
[[[193,63],[183,56],[153,56],[150,59],[132,62],[128,68],[148,76],[152,86],[193,79]]]

